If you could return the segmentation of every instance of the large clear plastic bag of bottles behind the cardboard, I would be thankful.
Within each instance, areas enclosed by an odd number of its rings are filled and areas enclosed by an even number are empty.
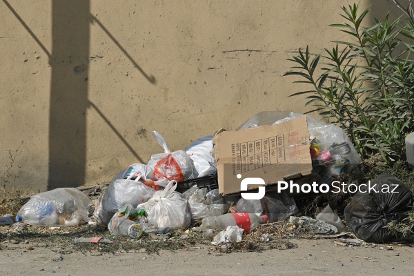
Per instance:
[[[237,130],[255,128],[257,126],[276,125],[301,116],[304,115],[289,111],[264,111],[248,119]],[[313,144],[317,145],[313,166],[314,170],[324,174],[325,177],[322,180],[326,180],[331,175],[337,175],[340,172],[351,172],[357,164],[361,163],[361,157],[359,157],[357,150],[355,150],[351,140],[342,128],[333,124],[325,124],[323,121],[319,121],[311,116],[307,116],[307,120],[309,134],[311,135],[311,139],[314,139]],[[343,151],[341,155],[328,157],[329,150],[336,149],[337,146],[346,146],[346,144],[349,150]],[[321,154],[324,158],[318,159]],[[316,166],[322,168],[315,168]]]

